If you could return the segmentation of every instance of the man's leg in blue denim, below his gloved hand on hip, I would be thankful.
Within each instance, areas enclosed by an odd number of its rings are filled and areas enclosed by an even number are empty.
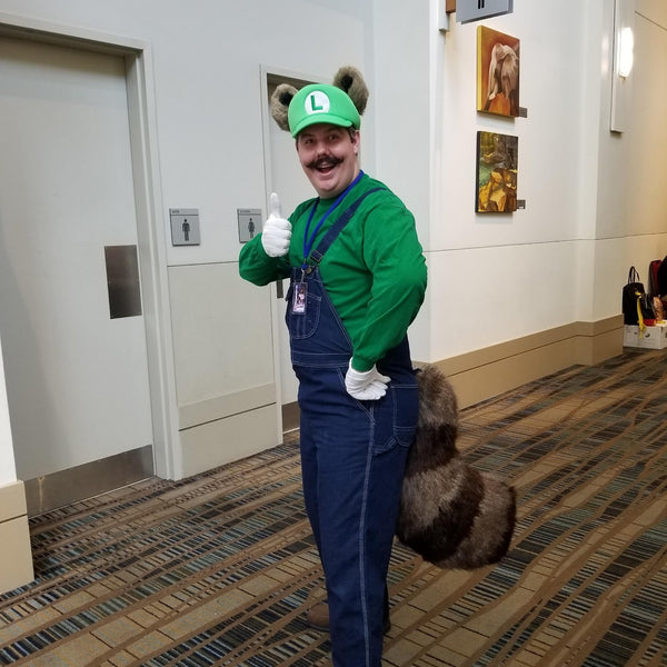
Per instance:
[[[380,665],[387,568],[408,451],[391,435],[392,414],[391,400],[380,408],[346,397],[341,414],[329,415],[315,429],[321,555],[337,667]]]

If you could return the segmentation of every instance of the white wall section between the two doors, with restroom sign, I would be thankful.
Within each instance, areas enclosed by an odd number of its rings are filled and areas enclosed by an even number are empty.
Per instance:
[[[245,283],[237,269],[237,209],[266,210],[261,68],[332,77],[349,62],[371,71],[370,3],[0,0],[0,12],[150,43],[176,419],[188,429],[175,475],[275,445],[280,436],[271,428],[239,449],[247,429],[222,424],[255,407],[266,421],[275,382],[269,289]],[[323,48],[326,33],[332,37]],[[371,166],[370,142],[364,156]],[[199,209],[200,246],[171,246],[169,208]]]

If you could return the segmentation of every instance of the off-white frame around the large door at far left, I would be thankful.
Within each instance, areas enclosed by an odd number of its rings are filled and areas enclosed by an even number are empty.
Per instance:
[[[165,216],[160,197],[150,44],[133,38],[6,12],[0,12],[0,36],[109,53],[125,59],[153,429],[153,468],[159,477],[178,479],[182,464],[178,448],[167,251],[160,223]]]

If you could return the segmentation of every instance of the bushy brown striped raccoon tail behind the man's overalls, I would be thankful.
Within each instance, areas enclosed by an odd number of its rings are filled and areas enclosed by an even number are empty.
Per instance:
[[[404,479],[396,535],[441,568],[497,563],[516,520],[512,487],[469,466],[456,449],[458,406],[435,366],[418,371],[419,420]]]

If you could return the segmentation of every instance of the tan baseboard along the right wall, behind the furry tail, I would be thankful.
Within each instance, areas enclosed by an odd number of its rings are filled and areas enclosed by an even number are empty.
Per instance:
[[[618,315],[571,322],[429,364],[447,375],[459,407],[465,408],[570,366],[593,366],[621,352],[623,315]],[[283,405],[283,432],[298,426],[298,404]]]

